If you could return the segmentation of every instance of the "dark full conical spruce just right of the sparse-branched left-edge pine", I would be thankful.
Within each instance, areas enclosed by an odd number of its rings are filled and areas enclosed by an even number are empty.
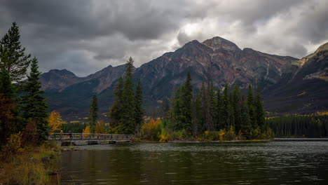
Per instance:
[[[43,141],[46,140],[48,136],[48,105],[46,104],[45,97],[43,97],[44,91],[40,90],[40,74],[38,60],[34,57],[32,59],[31,72],[29,76],[27,76],[27,81],[25,83],[25,92],[27,95],[22,97],[22,111],[26,123],[29,121],[34,121],[36,123],[39,141]]]

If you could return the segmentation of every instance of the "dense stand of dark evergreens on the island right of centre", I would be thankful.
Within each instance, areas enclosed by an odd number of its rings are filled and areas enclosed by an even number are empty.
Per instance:
[[[224,90],[216,90],[213,83],[203,82],[198,92],[193,91],[191,74],[175,91],[170,104],[163,103],[166,128],[184,130],[194,137],[206,132],[230,132],[245,139],[273,137],[264,118],[261,94],[254,95],[249,85],[247,95],[240,95],[238,85],[232,90],[228,83]]]

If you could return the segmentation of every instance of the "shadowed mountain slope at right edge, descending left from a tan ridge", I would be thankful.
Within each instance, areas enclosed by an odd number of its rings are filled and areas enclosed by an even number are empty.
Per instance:
[[[328,43],[298,61],[299,69],[264,90],[265,108],[282,113],[328,109]]]

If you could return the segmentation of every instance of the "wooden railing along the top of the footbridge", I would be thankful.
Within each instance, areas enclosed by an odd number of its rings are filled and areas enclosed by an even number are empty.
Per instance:
[[[107,135],[107,134],[85,134],[85,133],[51,133],[48,140],[130,140],[134,135]]]

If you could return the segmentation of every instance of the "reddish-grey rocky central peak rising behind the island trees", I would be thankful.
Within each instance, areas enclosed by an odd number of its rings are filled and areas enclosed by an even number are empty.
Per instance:
[[[136,78],[142,79],[146,95],[154,99],[168,94],[181,85],[187,71],[191,71],[194,87],[202,81],[213,81],[223,88],[225,83],[238,83],[245,88],[249,83],[266,87],[275,84],[283,74],[298,67],[294,57],[261,53],[250,48],[241,50],[235,43],[214,37],[203,43],[191,41],[173,53],[152,60],[136,69]]]

